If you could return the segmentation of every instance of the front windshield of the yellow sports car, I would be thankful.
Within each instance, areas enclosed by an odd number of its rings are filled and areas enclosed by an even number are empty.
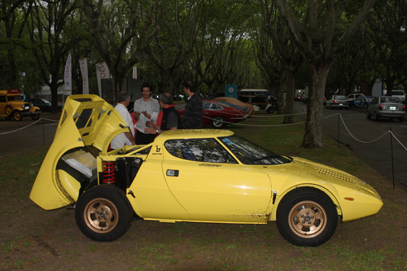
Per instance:
[[[220,139],[241,163],[247,165],[279,165],[291,161],[236,135]]]

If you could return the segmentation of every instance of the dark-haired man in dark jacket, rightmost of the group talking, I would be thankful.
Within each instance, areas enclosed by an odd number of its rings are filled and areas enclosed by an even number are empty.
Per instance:
[[[188,101],[183,112],[184,129],[201,129],[203,108],[202,97],[197,93],[197,86],[193,81],[183,82],[183,92],[188,95]]]

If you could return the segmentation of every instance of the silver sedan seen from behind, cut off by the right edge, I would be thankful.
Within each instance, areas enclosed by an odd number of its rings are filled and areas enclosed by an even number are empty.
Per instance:
[[[404,115],[406,114],[406,106],[401,103],[401,100],[397,97],[381,96],[376,97],[373,102],[368,106],[366,116],[368,119],[374,117],[375,121],[380,118],[399,119],[400,122],[404,121]]]

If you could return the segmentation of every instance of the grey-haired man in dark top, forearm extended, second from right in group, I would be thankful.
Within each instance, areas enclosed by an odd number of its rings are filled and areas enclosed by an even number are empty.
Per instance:
[[[164,92],[159,96],[159,105],[163,109],[163,118],[161,119],[161,126],[155,122],[150,122],[150,128],[146,128],[145,132],[148,134],[161,134],[162,131],[182,129],[181,116],[177,109],[172,104],[172,96],[168,92]]]

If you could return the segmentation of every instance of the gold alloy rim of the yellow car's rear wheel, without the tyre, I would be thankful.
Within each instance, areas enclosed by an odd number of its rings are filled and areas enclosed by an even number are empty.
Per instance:
[[[89,201],[83,210],[83,219],[90,230],[97,233],[111,232],[119,222],[119,212],[108,199],[96,198]]]

